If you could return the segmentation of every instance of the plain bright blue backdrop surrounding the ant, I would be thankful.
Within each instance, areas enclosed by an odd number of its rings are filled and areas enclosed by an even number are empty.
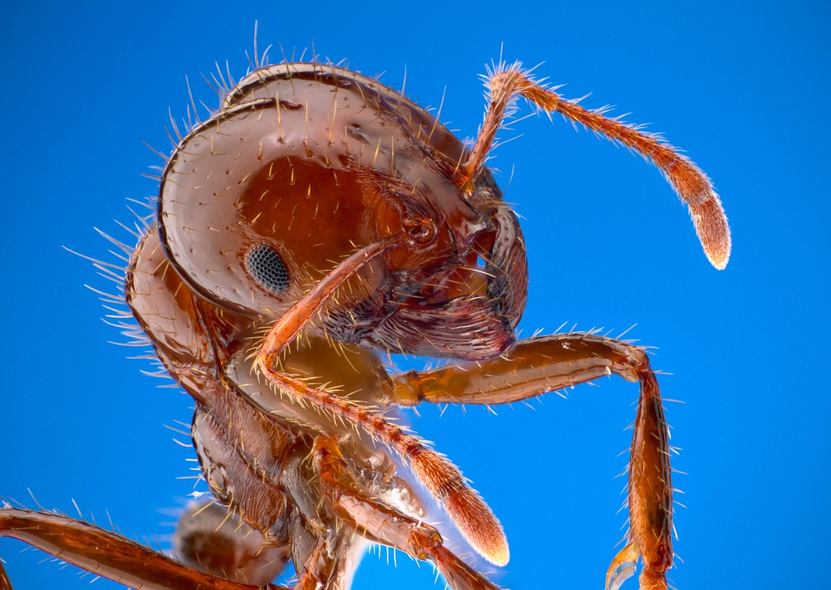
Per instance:
[[[506,199],[524,217],[531,268],[524,335],[563,322],[658,347],[675,458],[678,588],[828,588],[828,2],[142,2],[7,8],[0,35],[3,366],[0,494],[85,516],[166,546],[193,483],[189,398],[140,374],[145,361],[99,319],[111,288],[61,246],[108,258],[93,226],[124,237],[125,199],[170,149],[168,109],[184,76],[214,61],[241,76],[259,47],[324,59],[400,88],[462,137],[483,115],[477,74],[499,57],[593,92],[584,106],[651,123],[711,175],[735,249],[711,268],[686,210],[627,150],[555,116],[503,132],[494,151]],[[787,6],[787,7],[785,7]],[[307,52],[307,56],[309,52]],[[278,59],[279,50],[271,52]],[[520,106],[520,114],[531,112]],[[513,172],[509,186],[508,180]],[[826,301],[826,303],[822,303]],[[497,408],[420,408],[413,424],[493,507],[512,548],[505,587],[600,588],[626,519],[624,428],[637,387],[580,386]],[[203,484],[204,485],[204,484]],[[2,540],[15,588],[86,588],[72,568]],[[681,562],[683,560],[683,563]],[[48,561],[48,560],[47,560]],[[433,588],[425,565],[368,555],[355,588]],[[95,588],[115,588],[105,581]],[[439,584],[440,587],[440,584]],[[635,588],[630,581],[624,588]]]

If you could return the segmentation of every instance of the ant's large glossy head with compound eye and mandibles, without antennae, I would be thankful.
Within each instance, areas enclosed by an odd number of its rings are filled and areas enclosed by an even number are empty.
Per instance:
[[[160,234],[185,283],[268,321],[356,245],[397,235],[401,246],[356,273],[317,329],[425,356],[509,347],[527,268],[489,170],[464,189],[462,142],[376,81],[302,64],[268,76],[255,91],[243,81],[165,169]]]

